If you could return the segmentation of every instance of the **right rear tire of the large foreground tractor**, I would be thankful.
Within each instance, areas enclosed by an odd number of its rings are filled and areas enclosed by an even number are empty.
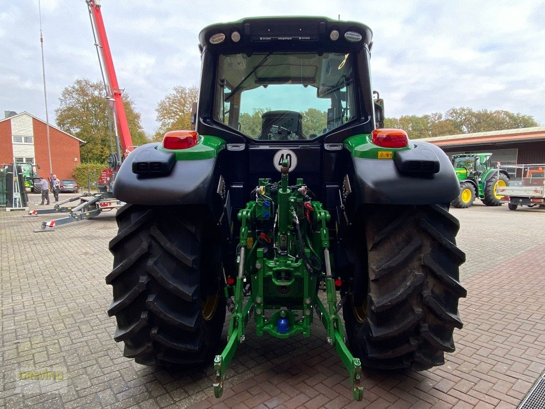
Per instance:
[[[352,352],[368,368],[442,365],[444,352],[455,350],[454,328],[463,325],[458,220],[437,205],[380,205],[367,208],[364,221],[368,270],[354,279],[359,288],[343,308]]]

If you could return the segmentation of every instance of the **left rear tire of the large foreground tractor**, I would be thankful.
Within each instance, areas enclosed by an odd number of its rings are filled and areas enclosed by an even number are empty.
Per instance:
[[[108,315],[124,356],[144,365],[207,364],[225,321],[219,234],[196,206],[118,210]],[[204,254],[204,251],[206,253]]]

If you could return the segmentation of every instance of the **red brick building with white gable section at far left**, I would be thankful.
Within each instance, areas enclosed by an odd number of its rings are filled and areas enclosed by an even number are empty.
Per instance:
[[[28,112],[5,112],[0,119],[0,164],[32,163],[40,165],[38,175],[49,177],[52,171],[59,179],[73,178],[74,166],[80,164],[80,145],[85,143],[75,136],[49,125],[51,164],[47,149],[45,121]]]

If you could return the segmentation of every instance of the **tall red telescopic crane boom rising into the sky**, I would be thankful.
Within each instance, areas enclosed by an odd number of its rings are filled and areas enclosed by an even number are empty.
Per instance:
[[[116,127],[114,128],[116,131],[117,160],[120,161],[122,158],[120,156],[121,153],[119,152],[119,144],[123,149],[123,157],[126,157],[129,152],[134,149],[125,107],[123,106],[123,89],[119,88],[117,82],[116,69],[113,66],[110,45],[108,44],[108,38],[106,36],[106,28],[100,12],[100,0],[86,0],[86,2],[89,9],[93,35],[95,37],[96,50],[99,56],[102,80],[104,80],[108,98],[113,103],[114,122],[116,123]]]

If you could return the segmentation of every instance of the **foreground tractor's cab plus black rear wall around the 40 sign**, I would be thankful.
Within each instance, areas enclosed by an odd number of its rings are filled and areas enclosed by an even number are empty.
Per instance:
[[[240,187],[235,208],[259,178],[277,177],[284,158],[294,181],[317,194],[342,180],[331,164],[346,154],[344,140],[375,128],[371,37],[362,23],[325,17],[256,17],[201,31],[196,131],[226,141],[227,161],[239,165],[228,178]]]

